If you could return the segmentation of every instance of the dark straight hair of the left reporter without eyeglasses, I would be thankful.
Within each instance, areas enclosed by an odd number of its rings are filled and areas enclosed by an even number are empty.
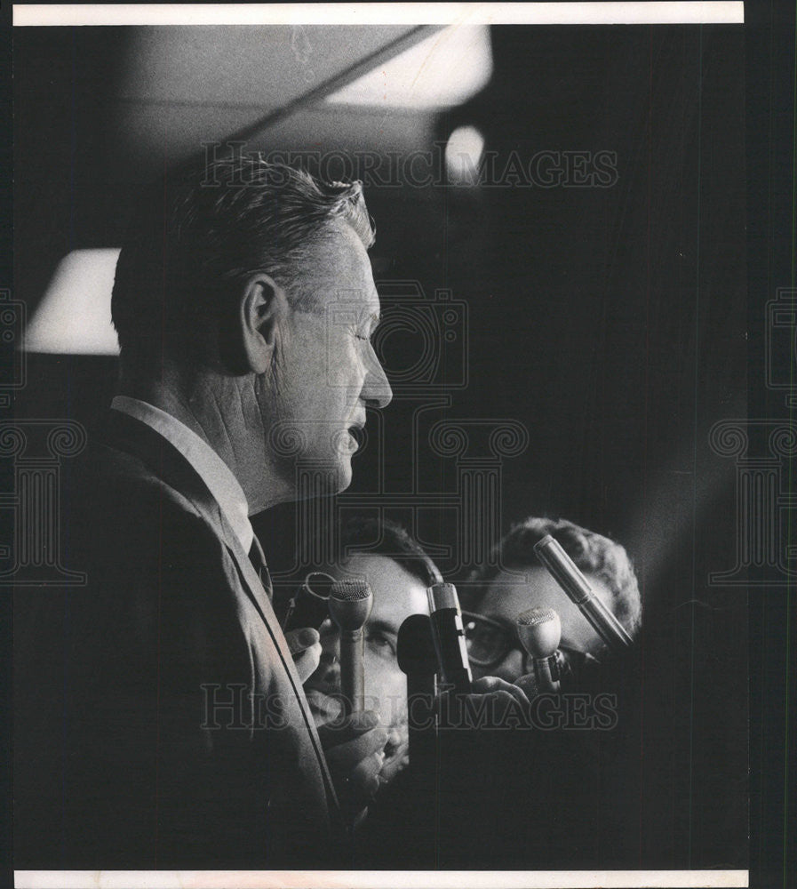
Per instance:
[[[440,569],[401,525],[389,519],[354,517],[340,532],[340,559],[384,556],[393,559],[425,587],[442,581]]]

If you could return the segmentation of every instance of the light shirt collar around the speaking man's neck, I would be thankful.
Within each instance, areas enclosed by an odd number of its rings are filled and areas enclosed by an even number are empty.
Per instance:
[[[238,479],[219,454],[185,423],[181,423],[176,417],[172,417],[171,413],[162,411],[154,404],[147,404],[138,398],[117,395],[111,402],[111,408],[146,423],[182,453],[207,485],[224,517],[232,526],[235,536],[241,541],[243,551],[248,553],[254,539],[249,521],[249,505]]]

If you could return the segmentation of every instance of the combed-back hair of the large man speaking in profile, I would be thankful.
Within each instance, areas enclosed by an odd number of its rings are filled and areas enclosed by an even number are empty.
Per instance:
[[[123,367],[146,371],[164,348],[190,341],[198,321],[223,322],[235,284],[254,273],[272,276],[295,306],[311,304],[308,254],[341,220],[373,244],[362,182],[323,182],[256,156],[164,176],[147,189],[116,264]]]

